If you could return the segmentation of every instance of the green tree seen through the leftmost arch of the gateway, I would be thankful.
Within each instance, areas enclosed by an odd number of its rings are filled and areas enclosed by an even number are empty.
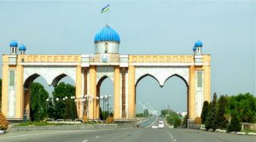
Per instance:
[[[32,121],[42,121],[47,116],[46,99],[49,94],[39,82],[32,82],[30,88]]]

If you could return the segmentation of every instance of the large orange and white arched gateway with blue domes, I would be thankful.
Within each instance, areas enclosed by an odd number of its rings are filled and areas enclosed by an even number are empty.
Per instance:
[[[30,117],[29,88],[34,79],[44,77],[55,86],[69,76],[76,85],[76,98],[90,96],[87,103],[79,103],[78,115],[89,119],[99,118],[99,86],[110,77],[113,80],[113,117],[135,118],[137,82],[150,75],[160,86],[166,79],[177,76],[188,89],[189,119],[201,116],[204,100],[210,101],[210,55],[201,54],[201,41],[197,41],[191,55],[120,55],[119,34],[105,26],[95,36],[95,54],[30,55],[26,46],[12,41],[10,54],[3,55],[2,111],[8,120]],[[82,96],[81,96],[82,94]],[[85,109],[85,110],[84,110]]]

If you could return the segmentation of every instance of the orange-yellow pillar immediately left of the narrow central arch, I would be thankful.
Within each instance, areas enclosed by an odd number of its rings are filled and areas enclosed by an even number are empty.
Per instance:
[[[89,119],[96,118],[96,66],[90,65],[90,94],[93,96],[93,99],[89,101]]]

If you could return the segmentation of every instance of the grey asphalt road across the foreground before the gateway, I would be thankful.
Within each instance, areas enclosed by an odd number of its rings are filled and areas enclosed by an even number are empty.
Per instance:
[[[186,128],[19,131],[0,135],[0,142],[256,142],[255,136],[212,133]]]

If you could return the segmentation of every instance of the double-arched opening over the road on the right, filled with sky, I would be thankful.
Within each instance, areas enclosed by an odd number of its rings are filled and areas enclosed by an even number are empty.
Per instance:
[[[161,110],[186,114],[189,111],[188,92],[188,83],[177,74],[166,78],[164,86],[160,86],[156,77],[146,74],[136,83],[137,116],[144,116],[147,112],[145,110],[148,110],[149,114],[157,112],[157,115],[160,115]]]

